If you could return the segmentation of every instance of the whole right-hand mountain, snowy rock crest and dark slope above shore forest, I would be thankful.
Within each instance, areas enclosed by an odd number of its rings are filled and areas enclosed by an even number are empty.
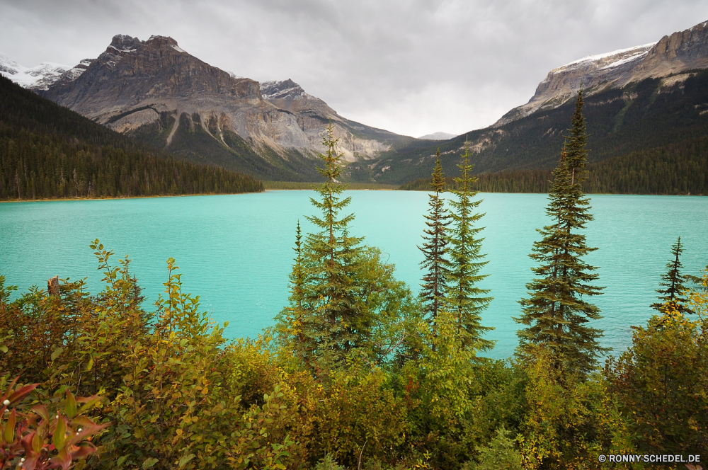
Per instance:
[[[479,173],[554,168],[581,81],[591,162],[700,139],[708,135],[707,26],[700,23],[650,45],[578,59],[549,72],[529,103],[493,126],[389,151],[374,161],[351,164],[347,171],[353,180],[380,183],[428,178],[440,149],[443,171],[455,176],[466,140]]]

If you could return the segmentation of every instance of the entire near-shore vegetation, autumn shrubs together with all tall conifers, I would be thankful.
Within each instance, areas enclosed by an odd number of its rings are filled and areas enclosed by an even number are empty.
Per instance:
[[[130,259],[98,240],[98,294],[55,277],[16,297],[0,275],[0,469],[702,468],[708,267],[683,273],[680,237],[655,253],[668,263],[653,316],[626,351],[603,347],[582,110],[581,90],[527,292],[508,312],[513,357],[479,355],[494,344],[481,317],[495,292],[479,287],[484,202],[467,146],[452,188],[436,161],[414,295],[354,233],[329,126],[305,216],[316,232],[293,227],[290,297],[258,338],[226,340],[173,258],[152,310]]]

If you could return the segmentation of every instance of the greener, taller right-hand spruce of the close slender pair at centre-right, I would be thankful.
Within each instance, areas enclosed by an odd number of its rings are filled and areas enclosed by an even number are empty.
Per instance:
[[[483,227],[474,226],[484,214],[474,212],[481,200],[472,200],[477,192],[472,188],[476,178],[472,176],[470,156],[469,144],[465,141],[462,164],[457,165],[460,171],[459,178],[455,178],[457,189],[451,191],[457,200],[450,200],[452,228],[447,238],[450,243],[450,268],[445,309],[455,318],[456,332],[464,348],[489,350],[494,342],[482,338],[482,335],[493,328],[481,325],[481,312],[489,306],[492,297],[486,297],[489,290],[478,287],[487,276],[479,272],[488,261],[483,261],[485,255],[480,253],[483,239],[476,238]]]

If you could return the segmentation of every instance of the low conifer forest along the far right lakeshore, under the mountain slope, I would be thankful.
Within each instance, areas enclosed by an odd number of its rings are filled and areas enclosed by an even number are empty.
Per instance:
[[[586,193],[708,195],[708,136],[654,149],[634,151],[589,164]],[[551,170],[516,170],[477,175],[485,193],[547,193]],[[447,187],[455,188],[454,178]],[[431,178],[401,185],[401,190],[430,190]]]

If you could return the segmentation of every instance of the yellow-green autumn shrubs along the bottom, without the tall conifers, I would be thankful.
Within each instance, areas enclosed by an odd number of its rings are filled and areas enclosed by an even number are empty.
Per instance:
[[[400,354],[354,351],[322,377],[267,334],[225,340],[174,260],[151,312],[130,260],[92,247],[96,295],[66,281],[11,300],[0,277],[1,469],[595,469],[601,453],[707,448],[701,285],[695,316],[667,309],[592,374],[542,346],[478,357],[440,311],[437,334],[406,323]]]

